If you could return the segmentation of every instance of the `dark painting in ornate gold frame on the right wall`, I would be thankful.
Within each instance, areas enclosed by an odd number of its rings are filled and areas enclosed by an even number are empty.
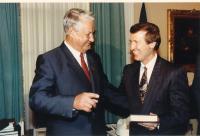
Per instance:
[[[194,72],[200,47],[200,11],[167,10],[168,60]]]

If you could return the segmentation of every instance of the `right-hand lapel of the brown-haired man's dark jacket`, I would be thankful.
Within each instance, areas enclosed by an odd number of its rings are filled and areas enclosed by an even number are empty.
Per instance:
[[[153,102],[156,100],[156,96],[159,91],[159,85],[162,82],[163,78],[161,74],[161,58],[158,56],[156,60],[156,64],[153,68],[151,78],[149,80],[149,85],[148,85],[148,92],[146,94],[144,104],[143,104],[143,114],[149,114],[150,108],[152,107]]]

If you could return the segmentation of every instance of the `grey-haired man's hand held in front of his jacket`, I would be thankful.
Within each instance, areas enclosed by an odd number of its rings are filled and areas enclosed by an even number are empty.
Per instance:
[[[96,108],[98,98],[99,95],[95,93],[81,93],[75,97],[73,108],[76,110],[91,112],[93,108]]]

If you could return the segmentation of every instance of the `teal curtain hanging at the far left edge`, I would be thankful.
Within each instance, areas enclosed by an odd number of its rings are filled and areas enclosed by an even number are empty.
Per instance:
[[[0,118],[23,119],[19,5],[0,4]]]

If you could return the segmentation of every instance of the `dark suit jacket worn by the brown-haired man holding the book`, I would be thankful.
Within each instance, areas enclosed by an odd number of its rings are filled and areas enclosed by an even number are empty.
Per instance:
[[[131,123],[131,134],[184,134],[189,120],[186,73],[158,56],[144,104],[139,98],[139,73],[140,62],[125,66],[119,89],[127,94],[130,114],[155,113],[160,128],[149,131]]]

